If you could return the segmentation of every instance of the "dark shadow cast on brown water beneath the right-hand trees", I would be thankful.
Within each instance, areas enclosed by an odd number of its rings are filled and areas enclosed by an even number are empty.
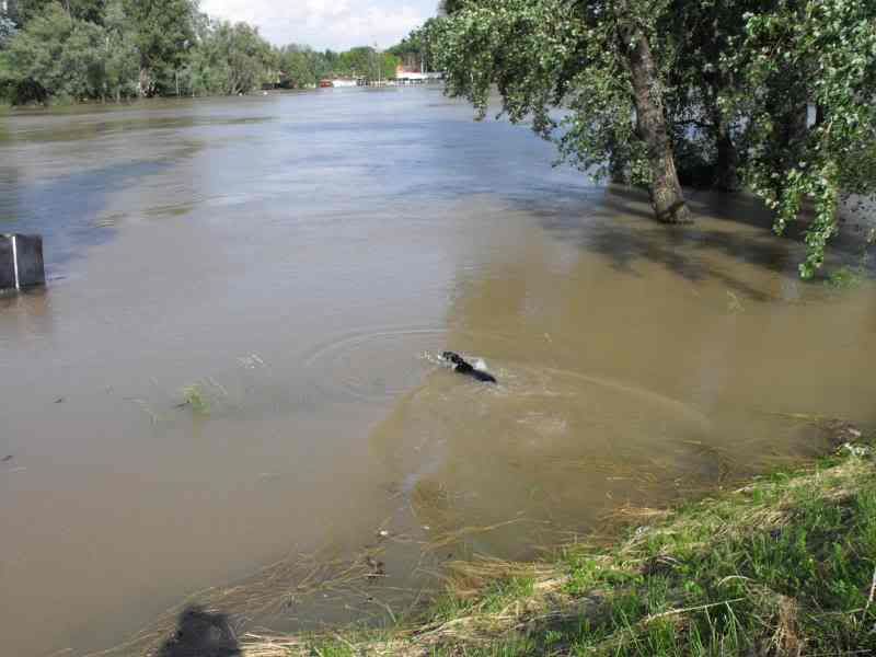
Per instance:
[[[760,301],[775,298],[771,280],[776,277],[797,280],[797,265],[805,258],[806,221],[788,226],[780,237],[772,230],[772,214],[749,195],[699,193],[690,205],[695,222],[684,227],[658,223],[647,194],[616,186],[577,204],[534,199],[523,209],[555,240],[606,257],[629,276],[646,277],[637,265],[657,264],[684,280],[717,280]],[[828,266],[816,279],[823,279],[831,268],[856,265],[861,253],[861,239],[853,231],[841,231],[831,240]]]

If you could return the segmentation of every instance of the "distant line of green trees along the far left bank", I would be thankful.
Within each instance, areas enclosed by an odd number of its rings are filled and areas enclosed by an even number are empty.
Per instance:
[[[246,23],[211,20],[198,0],[7,0],[0,100],[122,101],[302,89],[332,76],[395,73],[391,53],[276,48]]]

